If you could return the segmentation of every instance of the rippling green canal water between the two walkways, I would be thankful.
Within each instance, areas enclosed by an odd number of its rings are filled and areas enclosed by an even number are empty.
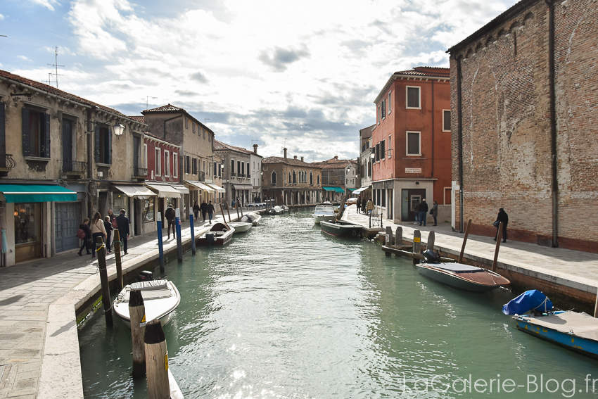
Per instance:
[[[598,362],[517,331],[501,312],[513,293],[425,279],[374,243],[320,232],[311,212],[262,217],[166,265],[185,398],[597,397],[585,379],[598,393]],[[146,398],[129,329],[101,313],[79,328],[85,397]]]

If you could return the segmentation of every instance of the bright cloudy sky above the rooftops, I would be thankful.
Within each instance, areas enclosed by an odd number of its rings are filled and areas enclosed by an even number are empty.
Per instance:
[[[393,72],[514,0],[2,0],[0,69],[125,115],[170,103],[262,156],[359,156]]]

